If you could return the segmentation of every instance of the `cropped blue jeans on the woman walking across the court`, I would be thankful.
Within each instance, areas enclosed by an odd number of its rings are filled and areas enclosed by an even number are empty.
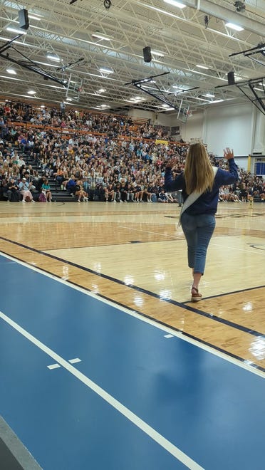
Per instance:
[[[215,228],[215,217],[211,214],[189,215],[181,218],[182,229],[187,240],[189,268],[194,273],[204,273],[207,248]]]

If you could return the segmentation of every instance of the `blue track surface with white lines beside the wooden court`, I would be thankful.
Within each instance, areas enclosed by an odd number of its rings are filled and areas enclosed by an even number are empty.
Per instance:
[[[262,377],[2,256],[0,286],[1,312],[204,469],[264,469]],[[43,469],[187,468],[1,318],[0,348],[0,414]]]

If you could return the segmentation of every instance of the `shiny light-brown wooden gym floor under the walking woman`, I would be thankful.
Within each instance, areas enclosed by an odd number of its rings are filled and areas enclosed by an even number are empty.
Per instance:
[[[179,211],[157,203],[0,202],[0,251],[264,372],[265,204],[219,204],[196,304]]]

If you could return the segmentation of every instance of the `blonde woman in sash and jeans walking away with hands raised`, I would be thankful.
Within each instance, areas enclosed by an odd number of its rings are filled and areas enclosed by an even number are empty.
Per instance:
[[[204,145],[197,142],[189,147],[184,172],[172,179],[176,158],[167,162],[165,170],[165,191],[182,189],[184,204],[180,212],[180,224],[187,241],[188,265],[192,268],[192,301],[202,299],[199,281],[204,273],[207,248],[214,233],[219,188],[233,184],[239,177],[233,150],[224,150],[224,158],[228,160],[229,171],[212,167]]]

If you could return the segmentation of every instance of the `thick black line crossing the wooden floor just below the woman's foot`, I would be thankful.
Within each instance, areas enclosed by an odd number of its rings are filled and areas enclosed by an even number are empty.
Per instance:
[[[240,330],[240,331],[243,331],[244,333],[249,333],[250,335],[253,335],[253,336],[261,336],[263,337],[264,336],[264,333],[261,333],[260,331],[256,331],[256,330],[251,330],[250,328],[246,328],[245,326],[243,325],[239,325],[239,323],[234,323],[230,320],[226,320],[225,318],[219,318],[217,317],[216,315],[212,315],[212,313],[207,313],[207,312],[204,312],[203,310],[199,310],[198,308],[194,308],[192,307],[191,305],[187,305],[187,303],[183,303],[183,302],[178,302],[178,301],[174,301],[172,299],[169,299],[169,298],[162,298],[159,294],[155,293],[155,292],[151,292],[151,291],[147,291],[147,289],[145,288],[140,288],[138,286],[134,286],[133,284],[127,284],[125,283],[124,281],[120,281],[120,279],[117,279],[117,278],[113,278],[111,276],[108,276],[107,274],[103,274],[103,273],[98,273],[97,271],[93,271],[93,269],[90,269],[90,268],[86,268],[85,266],[80,266],[79,264],[77,263],[73,263],[72,261],[66,261],[65,259],[63,258],[59,258],[58,256],[54,256],[52,254],[48,254],[48,253],[43,253],[43,251],[41,250],[38,250],[38,249],[35,249],[35,248],[31,248],[30,246],[26,246],[24,244],[21,244],[19,243],[18,241],[12,241],[12,240],[9,240],[9,239],[6,239],[4,238],[3,236],[0,236],[0,239],[4,240],[4,241],[8,241],[9,243],[11,244],[14,244],[14,245],[17,245],[17,246],[21,246],[22,248],[25,248],[25,249],[28,249],[30,251],[33,251],[34,253],[37,253],[37,254],[41,254],[43,256],[47,256],[48,258],[52,258],[56,261],[61,261],[62,263],[66,263],[68,264],[69,266],[73,266],[74,268],[78,268],[78,269],[81,269],[82,271],[86,271],[87,273],[90,273],[90,274],[93,274],[94,276],[99,276],[101,278],[105,278],[105,279],[108,279],[108,281],[112,281],[114,283],[118,283],[120,284],[121,286],[125,286],[125,287],[129,287],[129,288],[132,288],[134,289],[135,291],[138,291],[138,292],[141,292],[141,293],[145,293],[147,294],[147,296],[151,296],[151,297],[154,297],[154,298],[157,298],[159,299],[160,301],[163,301],[163,302],[167,302],[167,303],[171,303],[172,305],[176,305],[177,307],[181,307],[181,308],[184,308],[185,310],[189,310],[190,312],[192,313],[197,313],[197,315],[202,315],[204,316],[205,318],[209,318],[211,320],[214,320],[214,321],[217,321],[218,323],[222,323],[223,325],[227,325],[227,326],[230,326],[231,328],[235,328],[236,330]],[[3,251],[4,253],[4,251]],[[8,253],[5,253],[8,255]],[[14,258],[16,258],[14,256]],[[20,258],[16,258],[16,259],[19,259],[20,261],[23,261],[21,260]],[[25,262],[25,261],[24,261]],[[28,263],[29,264],[29,263]],[[30,264],[29,264],[30,265]],[[46,271],[43,269],[43,271]],[[46,271],[48,273],[50,273],[50,271]],[[53,275],[53,273],[51,273]],[[54,276],[54,275],[53,275]],[[59,276],[56,276],[56,277],[59,277]],[[69,281],[70,282],[70,281]],[[88,289],[89,291],[89,289]],[[247,291],[247,289],[246,289]],[[240,292],[240,291],[239,291]]]

